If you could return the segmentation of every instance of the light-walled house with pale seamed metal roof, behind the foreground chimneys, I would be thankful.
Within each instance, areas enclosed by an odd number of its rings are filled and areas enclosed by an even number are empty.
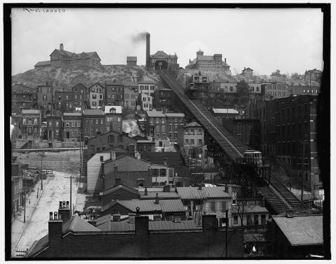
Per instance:
[[[202,214],[216,214],[219,226],[231,223],[232,195],[225,186],[217,187],[176,187],[183,205],[193,219],[200,219]],[[228,219],[226,211],[228,210]]]

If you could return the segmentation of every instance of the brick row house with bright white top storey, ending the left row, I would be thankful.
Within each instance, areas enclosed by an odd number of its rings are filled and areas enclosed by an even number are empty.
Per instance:
[[[106,132],[123,132],[123,107],[120,105],[105,106],[105,124]]]

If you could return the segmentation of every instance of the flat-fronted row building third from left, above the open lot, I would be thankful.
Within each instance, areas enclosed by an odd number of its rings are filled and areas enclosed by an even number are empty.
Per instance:
[[[63,140],[79,141],[80,133],[83,133],[81,112],[64,112],[62,117],[63,123]]]

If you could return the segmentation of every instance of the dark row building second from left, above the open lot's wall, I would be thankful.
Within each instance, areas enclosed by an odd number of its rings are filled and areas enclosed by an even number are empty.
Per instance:
[[[62,115],[44,115],[42,123],[45,124],[42,129],[44,140],[62,140]]]

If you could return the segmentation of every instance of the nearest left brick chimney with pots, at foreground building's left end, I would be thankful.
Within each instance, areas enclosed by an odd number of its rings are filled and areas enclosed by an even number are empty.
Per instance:
[[[62,240],[62,217],[57,212],[49,213],[48,237],[50,249],[58,249]]]

